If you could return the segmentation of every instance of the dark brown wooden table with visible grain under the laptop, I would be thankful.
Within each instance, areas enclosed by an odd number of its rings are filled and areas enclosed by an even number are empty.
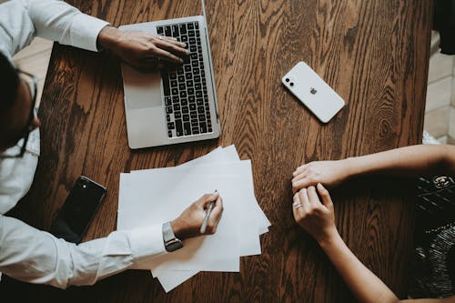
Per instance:
[[[198,1],[189,0],[68,2],[113,25],[201,15]],[[56,44],[39,112],[42,156],[15,217],[48,229],[83,174],[108,188],[86,240],[104,237],[116,227],[119,173],[173,167],[235,144],[243,159],[252,159],[256,196],[272,227],[261,237],[262,255],[242,258],[240,273],[199,273],[169,294],[147,271],[127,271],[94,287],[66,291],[7,279],[2,294],[33,301],[352,302],[329,259],[294,222],[291,173],[308,161],[420,143],[431,5],[426,0],[207,0],[223,134],[219,140],[140,151],[126,144],[116,57]],[[301,60],[347,102],[328,125],[280,84]],[[341,236],[403,298],[414,220],[409,183],[369,177],[332,195]]]

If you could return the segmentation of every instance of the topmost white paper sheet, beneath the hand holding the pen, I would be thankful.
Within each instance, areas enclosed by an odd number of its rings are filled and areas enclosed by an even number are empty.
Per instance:
[[[240,185],[240,178],[220,176],[195,178],[194,175],[174,173],[150,173],[144,176],[130,174],[130,177],[135,191],[134,195],[128,197],[127,207],[119,206],[118,217],[123,218],[118,220],[121,224],[118,225],[118,229],[144,227],[171,220],[189,205],[189,201],[195,201],[206,193],[207,187],[233,192],[224,197],[223,218],[215,235],[188,239],[182,249],[152,260],[150,262],[152,270],[154,268],[211,270],[207,268],[207,264],[213,261],[223,262],[227,266],[225,270],[229,268],[238,270],[238,261],[237,264],[227,264],[224,260],[239,256],[239,227],[245,223],[236,224],[241,204],[235,196],[235,191],[229,188],[233,184]]]

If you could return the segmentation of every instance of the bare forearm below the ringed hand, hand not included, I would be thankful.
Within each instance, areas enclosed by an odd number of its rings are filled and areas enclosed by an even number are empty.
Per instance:
[[[319,244],[360,302],[399,301],[399,298],[349,250],[338,233],[330,240]]]

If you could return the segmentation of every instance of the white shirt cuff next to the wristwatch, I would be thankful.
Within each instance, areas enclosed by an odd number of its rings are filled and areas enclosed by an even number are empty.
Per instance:
[[[161,224],[129,230],[128,237],[135,263],[166,252]]]

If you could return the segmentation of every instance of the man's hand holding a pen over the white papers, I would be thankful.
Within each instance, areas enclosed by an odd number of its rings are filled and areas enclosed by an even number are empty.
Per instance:
[[[210,217],[208,217],[206,232],[201,234],[199,230],[204,221],[204,217],[206,217],[206,208],[212,201],[216,202],[212,208]],[[217,231],[217,226],[222,213],[223,201],[218,193],[206,194],[187,207],[180,216],[172,221],[171,227],[176,237],[182,240],[188,237],[212,235]]]

